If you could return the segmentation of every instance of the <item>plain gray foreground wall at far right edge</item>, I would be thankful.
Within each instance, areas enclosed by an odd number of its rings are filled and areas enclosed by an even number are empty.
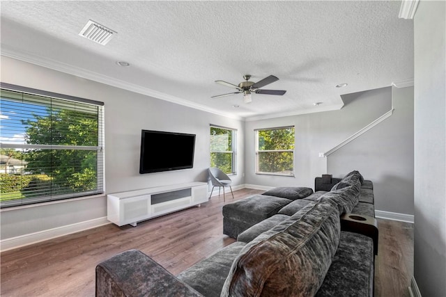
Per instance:
[[[415,39],[414,276],[446,296],[446,2],[420,1]]]

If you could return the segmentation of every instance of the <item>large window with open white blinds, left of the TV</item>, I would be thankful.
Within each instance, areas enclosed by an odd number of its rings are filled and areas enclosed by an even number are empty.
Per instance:
[[[103,193],[102,102],[1,83],[0,207]]]

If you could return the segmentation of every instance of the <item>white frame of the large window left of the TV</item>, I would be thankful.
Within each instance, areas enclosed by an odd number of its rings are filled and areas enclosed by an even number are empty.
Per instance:
[[[13,143],[12,141],[3,141],[0,138],[1,148],[4,149],[15,149],[15,150],[52,150],[57,152],[58,150],[72,150],[72,151],[95,151],[97,154],[95,155],[95,189],[89,189],[86,191],[72,191],[72,193],[52,193],[50,195],[42,194],[33,198],[24,198],[22,194],[22,198],[17,198],[15,200],[5,200],[0,202],[0,209],[7,209],[8,207],[21,207],[29,204],[40,204],[45,202],[54,202],[59,200],[71,200],[75,198],[85,198],[86,196],[93,196],[98,194],[105,193],[105,111],[104,111],[104,103],[98,102],[91,99],[85,99],[80,97],[74,97],[70,95],[63,95],[59,93],[47,92],[45,90],[38,90],[34,88],[27,88],[24,86],[16,86],[10,83],[0,83],[1,91],[5,92],[14,92],[21,93],[22,96],[33,97],[37,96],[39,99],[42,99],[45,104],[43,106],[52,106],[53,102],[57,104],[63,104],[65,102],[68,107],[65,108],[59,107],[61,110],[70,110],[71,106],[75,106],[75,104],[80,104],[82,106],[93,106],[94,109],[97,108],[97,120],[98,125],[98,139],[97,145],[60,145],[60,144],[27,144],[27,143]],[[5,97],[5,99],[8,97]],[[12,99],[13,97],[11,97]],[[30,103],[31,104],[31,103]],[[88,105],[84,105],[88,104]],[[14,110],[12,110],[14,111]],[[3,125],[3,123],[2,123]],[[12,125],[12,124],[11,124]],[[12,127],[12,126],[7,126]],[[6,134],[7,135],[7,134]],[[23,138],[24,140],[25,138]],[[2,142],[3,141],[3,142]],[[24,161],[24,160],[23,160]],[[26,161],[24,161],[26,163]],[[26,172],[20,172],[20,175],[26,175]],[[20,190],[21,191],[21,190]],[[48,191],[54,191],[53,188]],[[9,193],[9,192],[7,192]]]

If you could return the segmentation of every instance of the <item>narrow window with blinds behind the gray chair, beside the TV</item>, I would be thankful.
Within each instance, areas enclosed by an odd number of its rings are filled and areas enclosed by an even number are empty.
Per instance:
[[[236,174],[236,129],[210,126],[210,167]]]

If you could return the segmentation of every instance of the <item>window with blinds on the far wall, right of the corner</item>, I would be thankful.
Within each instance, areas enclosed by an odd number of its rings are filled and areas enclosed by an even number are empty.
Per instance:
[[[294,176],[294,127],[256,131],[256,173]]]

